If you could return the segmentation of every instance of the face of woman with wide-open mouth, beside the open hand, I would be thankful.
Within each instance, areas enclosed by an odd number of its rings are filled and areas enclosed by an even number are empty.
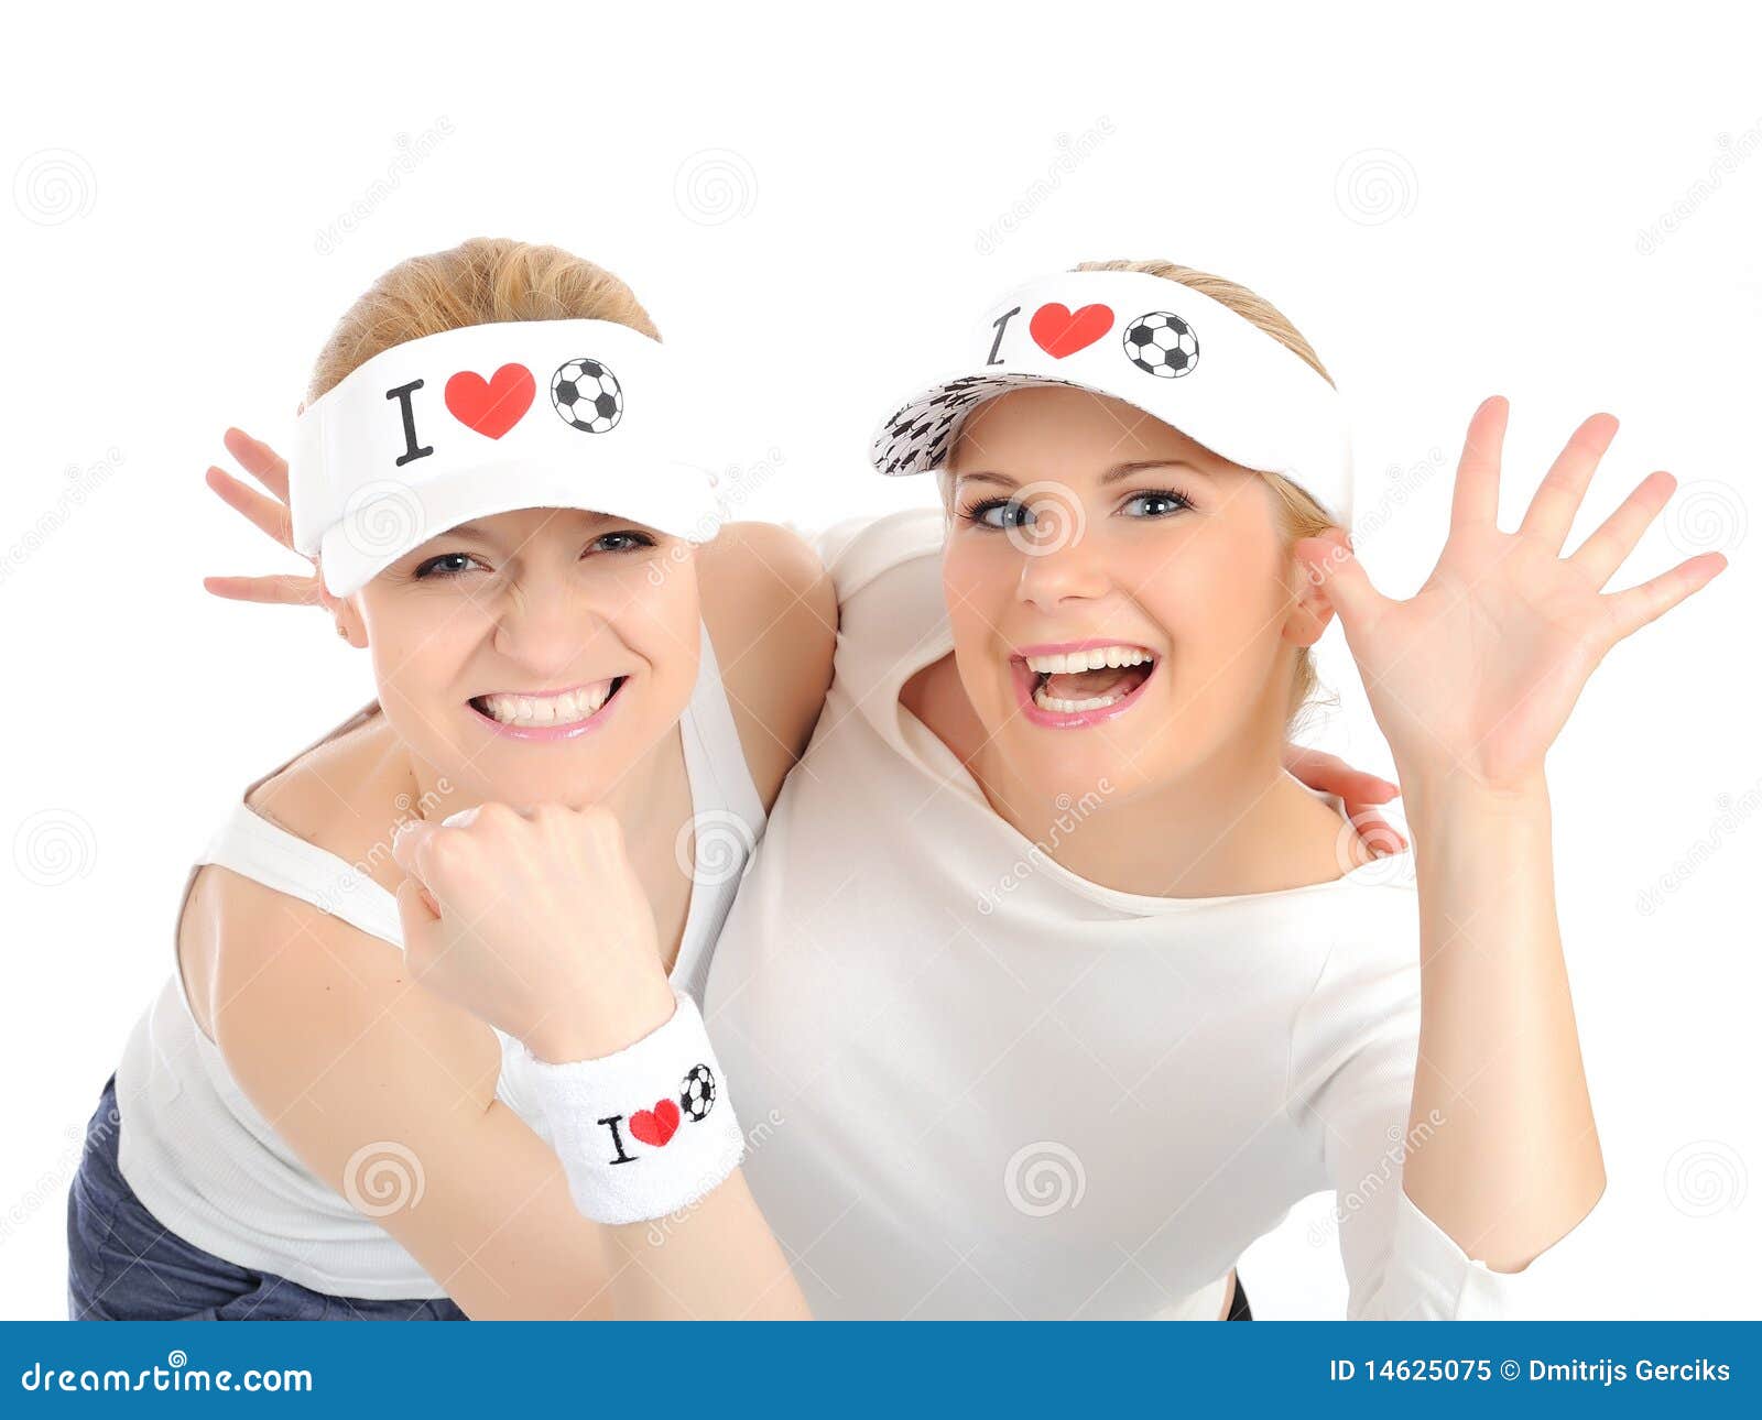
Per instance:
[[[1048,795],[1277,763],[1293,643],[1327,617],[1263,477],[1057,386],[981,405],[948,467],[943,585],[983,754]]]

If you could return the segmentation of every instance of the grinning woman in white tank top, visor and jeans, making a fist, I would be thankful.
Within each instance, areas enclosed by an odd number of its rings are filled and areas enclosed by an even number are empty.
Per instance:
[[[478,877],[513,930],[569,936],[622,1006],[596,1024],[671,1025],[701,992],[833,608],[791,534],[707,516],[673,386],[617,277],[474,240],[344,315],[291,474],[231,440],[291,518],[217,486],[322,574],[275,595],[321,601],[377,694],[252,784],[190,872],[99,1105],[120,1131],[88,1136],[70,1193],[76,1318],[641,1311],[522,1085],[543,1008],[493,1029],[423,948],[437,865],[541,823],[566,867],[532,877],[523,851]],[[440,832],[425,879],[388,851],[416,830]]]

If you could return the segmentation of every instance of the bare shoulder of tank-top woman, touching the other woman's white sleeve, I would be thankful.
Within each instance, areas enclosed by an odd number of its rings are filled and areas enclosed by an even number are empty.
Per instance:
[[[770,807],[832,684],[832,576],[789,529],[728,523],[698,550],[698,587],[740,745]]]

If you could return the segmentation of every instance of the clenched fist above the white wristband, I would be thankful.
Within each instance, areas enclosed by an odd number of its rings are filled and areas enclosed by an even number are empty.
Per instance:
[[[428,990],[544,1061],[622,1050],[673,1015],[654,913],[597,805],[481,803],[391,844],[403,955]]]

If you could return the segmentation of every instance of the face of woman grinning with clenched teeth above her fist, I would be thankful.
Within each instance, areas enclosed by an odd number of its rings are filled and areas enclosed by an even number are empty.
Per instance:
[[[700,608],[685,548],[566,507],[432,537],[351,599],[386,719],[470,798],[606,798],[691,699]]]

